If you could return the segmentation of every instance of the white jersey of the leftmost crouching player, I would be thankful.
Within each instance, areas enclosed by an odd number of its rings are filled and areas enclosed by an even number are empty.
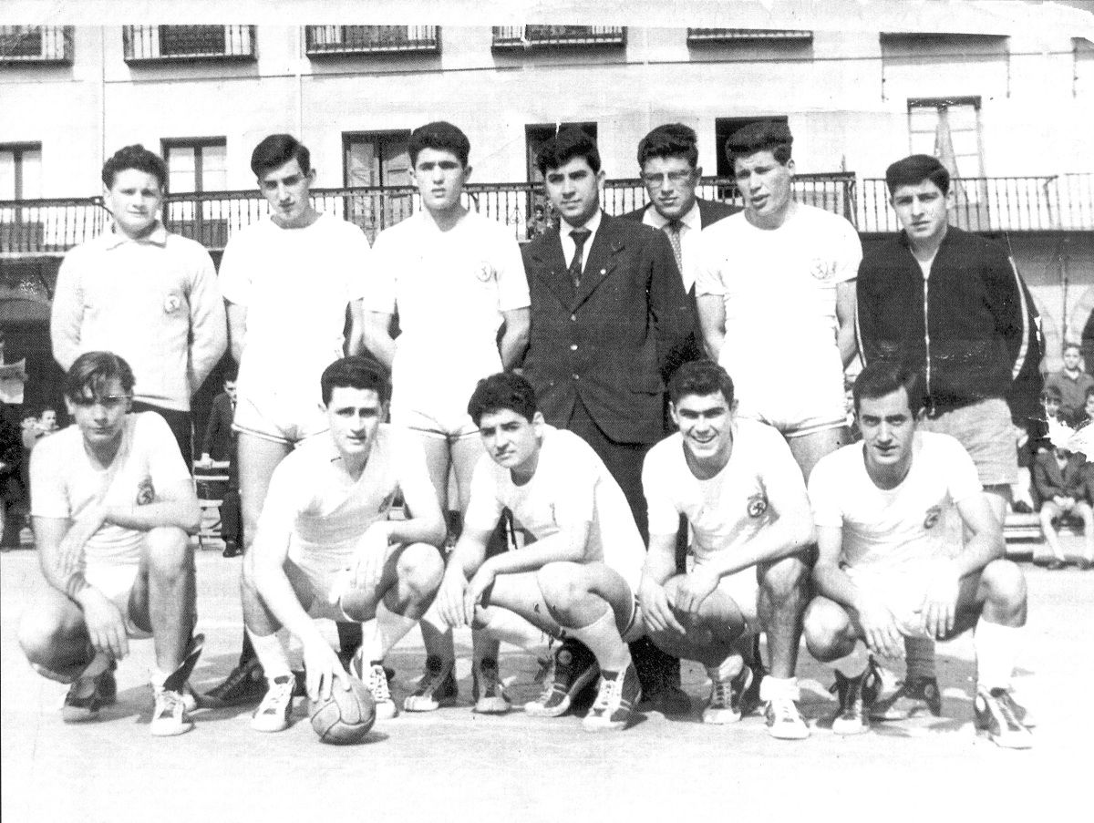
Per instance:
[[[126,415],[121,445],[106,468],[92,463],[79,426],[43,438],[31,452],[31,513],[78,519],[95,502],[155,502],[156,492],[190,479],[166,421],[154,412]],[[84,546],[89,567],[139,563],[144,532],[105,523]]]

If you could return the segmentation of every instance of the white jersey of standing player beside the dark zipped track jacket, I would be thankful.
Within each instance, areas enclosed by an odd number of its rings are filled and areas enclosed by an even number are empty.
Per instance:
[[[775,230],[757,229],[744,212],[719,220],[703,229],[698,246],[696,295],[723,301],[725,343],[718,362],[737,394],[763,393],[771,363],[780,362],[800,364],[803,374],[819,371],[842,391],[836,290],[858,276],[862,262],[854,227],[798,204]]]

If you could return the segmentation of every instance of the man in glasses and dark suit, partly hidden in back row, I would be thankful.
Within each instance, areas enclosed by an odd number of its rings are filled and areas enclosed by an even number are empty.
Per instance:
[[[695,130],[683,123],[666,123],[657,126],[638,143],[638,167],[650,202],[640,209],[624,215],[625,220],[635,220],[665,233],[676,256],[684,289],[688,293],[696,325],[687,338],[670,355],[667,371],[671,373],[682,363],[700,360],[706,355],[702,348],[702,329],[698,323],[695,303],[695,243],[699,232],[723,217],[741,211],[738,206],[703,200],[696,197],[695,189],[702,176],[699,166],[698,138]],[[666,431],[674,429],[665,409]],[[687,554],[687,523],[680,523],[676,555],[679,570],[684,570]],[[639,675],[642,679],[647,698],[665,714],[685,714],[690,709],[690,700],[680,688],[679,660],[673,658],[645,639],[649,649],[636,656]],[[636,644],[637,645],[637,644]],[[633,646],[633,645],[632,645]],[[647,665],[649,668],[647,668]]]

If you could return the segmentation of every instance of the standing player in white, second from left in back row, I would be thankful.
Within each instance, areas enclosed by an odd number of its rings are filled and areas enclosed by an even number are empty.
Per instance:
[[[311,153],[270,135],[251,155],[268,220],[232,235],[220,264],[232,357],[240,364],[232,428],[237,443],[244,550],[253,540],[277,465],[296,443],[327,430],[319,375],[361,347],[369,241],[352,223],[312,207]],[[349,315],[349,337],[342,332]],[[258,699],[261,666],[244,637],[240,663],[210,693],[223,703]]]

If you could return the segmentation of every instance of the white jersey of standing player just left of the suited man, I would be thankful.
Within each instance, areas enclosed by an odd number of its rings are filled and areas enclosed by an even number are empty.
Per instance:
[[[501,371],[502,312],[529,303],[512,231],[469,211],[442,232],[420,211],[381,232],[373,255],[365,311],[399,315],[393,403],[466,403],[478,380]]]

